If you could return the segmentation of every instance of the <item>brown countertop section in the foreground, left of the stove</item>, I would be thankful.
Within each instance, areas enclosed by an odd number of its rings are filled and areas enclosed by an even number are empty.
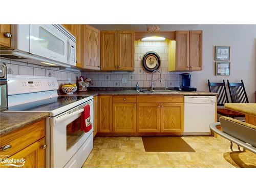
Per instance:
[[[0,136],[16,131],[32,122],[49,116],[49,113],[20,113],[1,112],[0,113]]]

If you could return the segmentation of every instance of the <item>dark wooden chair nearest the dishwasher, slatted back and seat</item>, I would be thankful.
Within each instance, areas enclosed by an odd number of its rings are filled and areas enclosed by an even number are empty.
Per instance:
[[[217,95],[217,106],[224,106],[228,103],[227,90],[225,86],[225,81],[223,82],[210,82],[208,79],[209,92],[218,93]],[[217,113],[227,117],[245,117],[244,114],[235,112],[228,109],[217,108]]]

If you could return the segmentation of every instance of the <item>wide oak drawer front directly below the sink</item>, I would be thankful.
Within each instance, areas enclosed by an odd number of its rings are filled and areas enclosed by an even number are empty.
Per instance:
[[[183,95],[137,95],[137,103],[183,103]]]

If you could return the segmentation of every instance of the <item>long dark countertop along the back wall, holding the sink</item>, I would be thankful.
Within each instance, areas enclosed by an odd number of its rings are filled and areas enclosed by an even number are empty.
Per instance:
[[[218,95],[218,93],[210,93],[204,91],[193,91],[193,92],[182,92],[176,91],[177,93],[138,93],[136,90],[106,90],[106,91],[77,91],[69,96],[96,96],[96,95]],[[59,93],[59,95],[66,95]]]

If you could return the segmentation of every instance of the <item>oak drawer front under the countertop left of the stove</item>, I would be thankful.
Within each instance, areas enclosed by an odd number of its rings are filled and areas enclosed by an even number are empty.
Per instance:
[[[0,151],[0,155],[6,157],[12,156],[43,137],[45,137],[45,119],[31,123],[20,130],[2,136],[0,147],[11,145],[11,148],[5,152]]]

